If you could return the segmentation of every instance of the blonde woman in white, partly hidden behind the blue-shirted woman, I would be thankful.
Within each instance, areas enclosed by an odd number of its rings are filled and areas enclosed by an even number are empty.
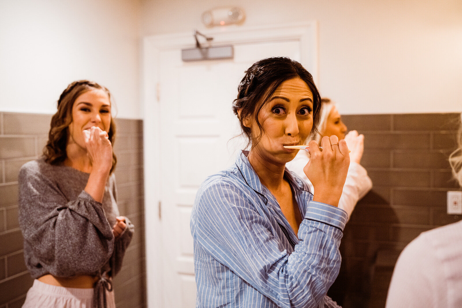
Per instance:
[[[372,188],[371,178],[367,175],[366,169],[360,164],[364,151],[364,135],[359,135],[357,131],[350,131],[345,135],[346,125],[343,124],[335,103],[329,98],[322,98],[321,102],[319,132],[312,138],[306,139],[304,144],[307,145],[310,140],[316,140],[319,143],[324,136],[330,137],[335,135],[339,140],[345,139],[348,149],[351,151],[350,167],[348,168],[345,185],[340,197],[339,208],[345,210],[348,214],[348,219],[350,219],[356,203]],[[299,151],[291,162],[286,163],[286,167],[307,181],[311,192],[313,192],[314,187],[303,172],[304,166],[309,161],[310,154],[307,151]]]

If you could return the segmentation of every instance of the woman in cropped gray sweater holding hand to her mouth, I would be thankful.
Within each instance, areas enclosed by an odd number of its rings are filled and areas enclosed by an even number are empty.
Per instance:
[[[19,173],[24,259],[35,278],[23,307],[116,307],[111,279],[134,226],[116,204],[114,135],[105,87],[80,80],[62,92],[43,157]]]

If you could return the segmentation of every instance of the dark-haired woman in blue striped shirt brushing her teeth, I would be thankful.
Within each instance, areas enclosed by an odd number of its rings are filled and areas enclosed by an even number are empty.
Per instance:
[[[199,188],[191,213],[196,307],[339,307],[326,293],[340,268],[347,214],[337,207],[349,150],[337,136],[310,142],[304,173],[286,169],[316,132],[321,97],[288,58],[254,63],[233,111],[249,151]]]

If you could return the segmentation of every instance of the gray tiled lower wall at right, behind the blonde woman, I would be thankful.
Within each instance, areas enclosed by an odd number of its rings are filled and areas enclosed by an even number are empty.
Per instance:
[[[446,214],[460,114],[343,115],[365,135],[361,163],[373,188],[353,211],[340,244],[342,268],[330,293],[344,308],[383,308],[395,261],[421,232],[462,219]],[[335,298],[334,298],[335,299]]]

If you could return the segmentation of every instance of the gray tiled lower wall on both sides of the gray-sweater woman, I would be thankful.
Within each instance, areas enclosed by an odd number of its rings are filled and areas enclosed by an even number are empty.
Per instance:
[[[0,308],[21,307],[32,278],[18,226],[18,171],[41,155],[51,115],[0,112]],[[121,272],[113,281],[117,307],[146,307],[142,121],[116,119],[114,151],[120,213],[135,225]]]

